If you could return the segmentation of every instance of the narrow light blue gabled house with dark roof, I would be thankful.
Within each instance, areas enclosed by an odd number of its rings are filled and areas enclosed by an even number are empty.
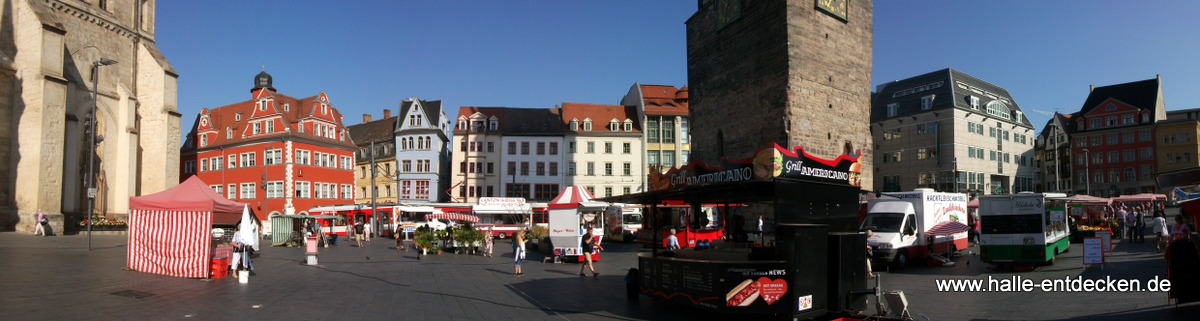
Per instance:
[[[408,98],[400,104],[395,140],[401,202],[450,199],[451,126],[442,101]]]

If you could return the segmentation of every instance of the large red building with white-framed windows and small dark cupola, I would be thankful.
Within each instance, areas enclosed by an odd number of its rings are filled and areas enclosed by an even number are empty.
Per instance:
[[[259,219],[354,204],[354,143],[324,92],[292,98],[271,75],[254,77],[251,99],[204,109],[180,149],[180,181],[198,175]]]

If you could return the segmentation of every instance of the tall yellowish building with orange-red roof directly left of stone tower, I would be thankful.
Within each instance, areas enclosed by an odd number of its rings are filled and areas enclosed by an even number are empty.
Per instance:
[[[634,84],[620,99],[637,108],[646,141],[642,164],[646,170],[666,172],[684,165],[691,153],[691,128],[688,117],[688,87]],[[642,177],[642,186],[646,180]]]

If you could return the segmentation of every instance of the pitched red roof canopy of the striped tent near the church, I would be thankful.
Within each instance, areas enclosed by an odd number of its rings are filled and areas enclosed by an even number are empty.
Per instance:
[[[130,198],[130,208],[146,211],[212,212],[212,225],[234,225],[241,220],[246,204],[217,195],[198,176],[192,176],[170,189],[150,195]],[[251,213],[253,216],[253,213]],[[259,218],[254,218],[258,220]]]

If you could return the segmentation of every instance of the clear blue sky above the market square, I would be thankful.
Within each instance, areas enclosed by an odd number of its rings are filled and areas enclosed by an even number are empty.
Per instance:
[[[156,40],[180,73],[186,132],[202,108],[320,91],[378,119],[407,97],[460,105],[616,104],[634,83],[688,81],[694,0],[160,1]],[[1200,1],[876,1],[872,87],[955,68],[1004,87],[1040,127],[1088,85],[1164,80],[1200,108]]]

